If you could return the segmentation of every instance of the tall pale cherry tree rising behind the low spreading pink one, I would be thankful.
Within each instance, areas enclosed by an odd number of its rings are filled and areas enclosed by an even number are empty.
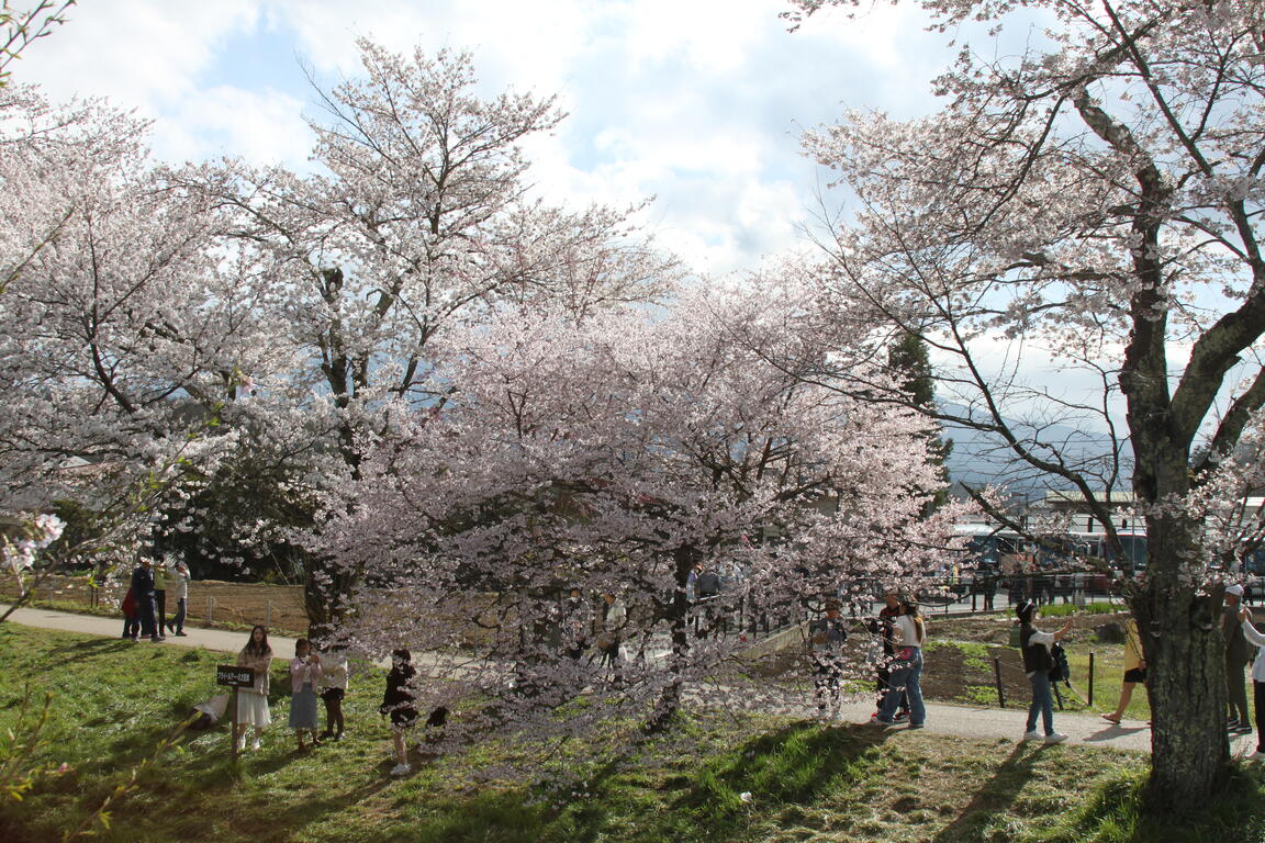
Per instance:
[[[444,330],[501,303],[584,313],[653,298],[674,274],[630,211],[531,197],[520,144],[557,126],[552,97],[482,95],[467,54],[405,57],[369,42],[361,52],[364,76],[320,94],[316,174],[228,162],[172,176],[233,212],[225,236],[275,279],[275,341],[302,365],[272,385],[312,407],[320,421],[305,430],[333,434],[340,465],[320,471],[352,476],[358,437],[390,427],[391,402],[430,398]],[[326,588],[321,561],[311,565],[319,624],[358,574]]]

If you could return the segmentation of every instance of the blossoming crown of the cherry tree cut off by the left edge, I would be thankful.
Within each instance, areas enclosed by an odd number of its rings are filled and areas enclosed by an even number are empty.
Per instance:
[[[80,500],[120,552],[231,442],[240,372],[281,365],[223,212],[154,177],[144,133],[0,90],[0,509]]]

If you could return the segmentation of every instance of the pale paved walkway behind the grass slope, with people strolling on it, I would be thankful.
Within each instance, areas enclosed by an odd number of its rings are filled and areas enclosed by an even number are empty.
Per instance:
[[[0,607],[3,610],[4,607]],[[66,632],[78,632],[91,636],[109,638],[119,637],[123,632],[123,619],[102,618],[96,616],[73,614],[68,612],[53,612],[51,609],[18,609],[8,623],[20,623],[28,627],[46,629],[63,629]],[[167,636],[163,643],[152,643],[144,638],[137,643],[138,647],[205,647],[214,652],[237,653],[245,645],[245,632],[228,632],[224,629],[201,629],[186,627],[187,637],[178,638]],[[295,648],[295,640],[280,636],[269,637],[273,651],[277,653],[291,653]],[[839,712],[840,723],[865,723],[869,719],[873,707],[869,701],[846,703]],[[808,708],[787,712],[810,717]],[[965,705],[927,705],[926,731],[932,734],[954,734],[983,741],[996,741],[998,738],[1018,739],[1023,734],[1023,722],[1027,708],[972,708]],[[1065,714],[1055,712],[1055,728],[1068,734],[1068,743],[1083,743],[1089,746],[1112,747],[1114,749],[1132,749],[1137,752],[1150,752],[1151,732],[1145,723],[1125,722],[1121,725],[1111,725],[1103,722],[1097,714]],[[879,727],[873,727],[879,728]],[[899,729],[899,727],[893,727]],[[1231,752],[1235,756],[1251,755],[1256,748],[1255,734],[1237,736],[1231,741]]]

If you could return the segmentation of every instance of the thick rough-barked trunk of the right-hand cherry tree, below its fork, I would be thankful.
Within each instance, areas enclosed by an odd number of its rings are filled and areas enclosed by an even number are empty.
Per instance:
[[[1150,518],[1147,535],[1150,576],[1133,605],[1152,718],[1146,801],[1173,815],[1202,810],[1227,770],[1225,643],[1219,590],[1202,594],[1183,576],[1203,567],[1195,525]]]

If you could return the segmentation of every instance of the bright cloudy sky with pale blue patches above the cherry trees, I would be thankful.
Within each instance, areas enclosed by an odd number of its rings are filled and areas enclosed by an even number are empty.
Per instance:
[[[81,0],[18,81],[153,118],[157,157],[239,155],[302,169],[316,115],[304,67],[358,71],[355,38],[473,53],[488,92],[557,94],[569,118],[534,139],[548,200],[627,206],[706,273],[806,248],[829,181],[799,134],[845,107],[929,111],[947,37],[912,4],[832,11],[791,34],[782,0]],[[836,197],[837,198],[837,197]]]

